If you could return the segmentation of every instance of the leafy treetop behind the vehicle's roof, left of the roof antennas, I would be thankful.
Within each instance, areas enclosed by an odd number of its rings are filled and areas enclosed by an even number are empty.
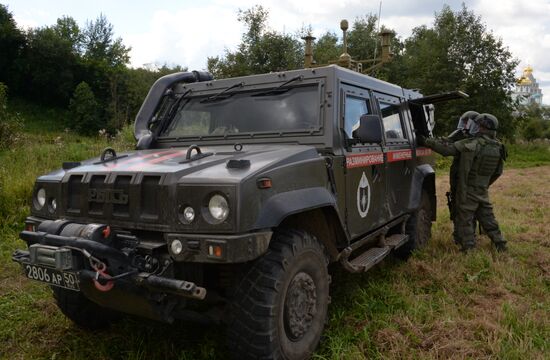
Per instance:
[[[269,12],[262,6],[239,11],[247,26],[235,52],[208,58],[208,71],[216,78],[298,69],[303,64],[302,43],[295,36],[267,30]]]

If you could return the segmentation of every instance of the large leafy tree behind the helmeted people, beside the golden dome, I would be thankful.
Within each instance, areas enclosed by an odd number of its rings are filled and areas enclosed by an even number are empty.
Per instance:
[[[437,106],[436,133],[448,133],[460,114],[476,110],[497,116],[499,133],[514,136],[510,95],[518,62],[465,5],[457,12],[445,5],[433,28],[415,28],[398,62],[399,71],[389,77],[392,82],[419,88],[425,95],[451,90],[470,95]]]

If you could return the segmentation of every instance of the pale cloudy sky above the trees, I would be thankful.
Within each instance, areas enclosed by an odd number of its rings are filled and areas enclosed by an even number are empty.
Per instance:
[[[84,25],[100,13],[114,25],[116,35],[131,46],[133,66],[179,64],[204,69],[207,56],[234,49],[244,30],[237,11],[261,4],[270,12],[270,28],[295,33],[311,25],[314,35],[339,31],[340,19],[378,13],[380,0],[0,0],[21,27],[51,25],[68,15]],[[434,13],[446,3],[462,3],[481,15],[487,28],[501,37],[521,63],[531,65],[550,105],[550,0],[384,0],[382,24],[402,39],[415,26],[430,26]]]

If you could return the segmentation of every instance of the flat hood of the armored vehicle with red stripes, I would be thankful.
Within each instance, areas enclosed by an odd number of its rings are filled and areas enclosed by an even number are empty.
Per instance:
[[[319,157],[314,147],[304,145],[244,145],[241,151],[236,151],[233,146],[205,146],[200,150],[202,154],[208,155],[196,160],[193,157],[186,159],[188,149],[178,147],[125,152],[117,154],[118,159],[108,162],[94,158],[70,170],[57,170],[41,176],[39,180],[61,181],[72,174],[86,173],[143,173],[165,174],[178,183],[231,183],[273,167]],[[193,150],[192,155],[196,154]]]

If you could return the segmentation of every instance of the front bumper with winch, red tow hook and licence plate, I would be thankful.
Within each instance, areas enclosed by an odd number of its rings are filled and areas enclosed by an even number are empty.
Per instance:
[[[140,239],[139,234],[117,233],[101,224],[36,217],[25,223],[20,238],[28,250],[15,251],[12,259],[28,278],[80,291],[106,308],[165,322],[182,318],[193,307],[204,308],[196,306],[195,300],[209,304],[219,300],[215,281],[209,283],[212,288],[207,297],[202,263],[253,260],[267,251],[272,234],[157,233],[154,238]],[[176,239],[183,244],[179,254],[172,253],[170,246]],[[213,246],[222,249],[222,256],[214,256]]]

